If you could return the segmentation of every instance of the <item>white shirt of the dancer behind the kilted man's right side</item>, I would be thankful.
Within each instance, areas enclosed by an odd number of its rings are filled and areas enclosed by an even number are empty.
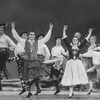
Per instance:
[[[45,57],[45,61],[50,59],[50,51],[46,44],[43,44],[38,48],[37,54],[42,54]]]

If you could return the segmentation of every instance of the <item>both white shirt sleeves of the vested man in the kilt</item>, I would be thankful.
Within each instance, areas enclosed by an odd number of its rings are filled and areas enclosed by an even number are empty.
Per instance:
[[[38,40],[38,48],[39,48],[40,46],[42,46],[44,43],[46,43],[46,42],[50,39],[51,33],[52,33],[52,29],[49,29],[49,31],[48,31],[48,33],[46,34],[46,36],[45,36],[43,39]],[[25,48],[25,41],[26,41],[26,40],[25,40],[25,39],[22,39],[22,38],[18,35],[18,33],[16,32],[15,28],[12,28],[12,34],[13,34],[13,37],[14,37],[18,42],[20,42],[21,45]]]

